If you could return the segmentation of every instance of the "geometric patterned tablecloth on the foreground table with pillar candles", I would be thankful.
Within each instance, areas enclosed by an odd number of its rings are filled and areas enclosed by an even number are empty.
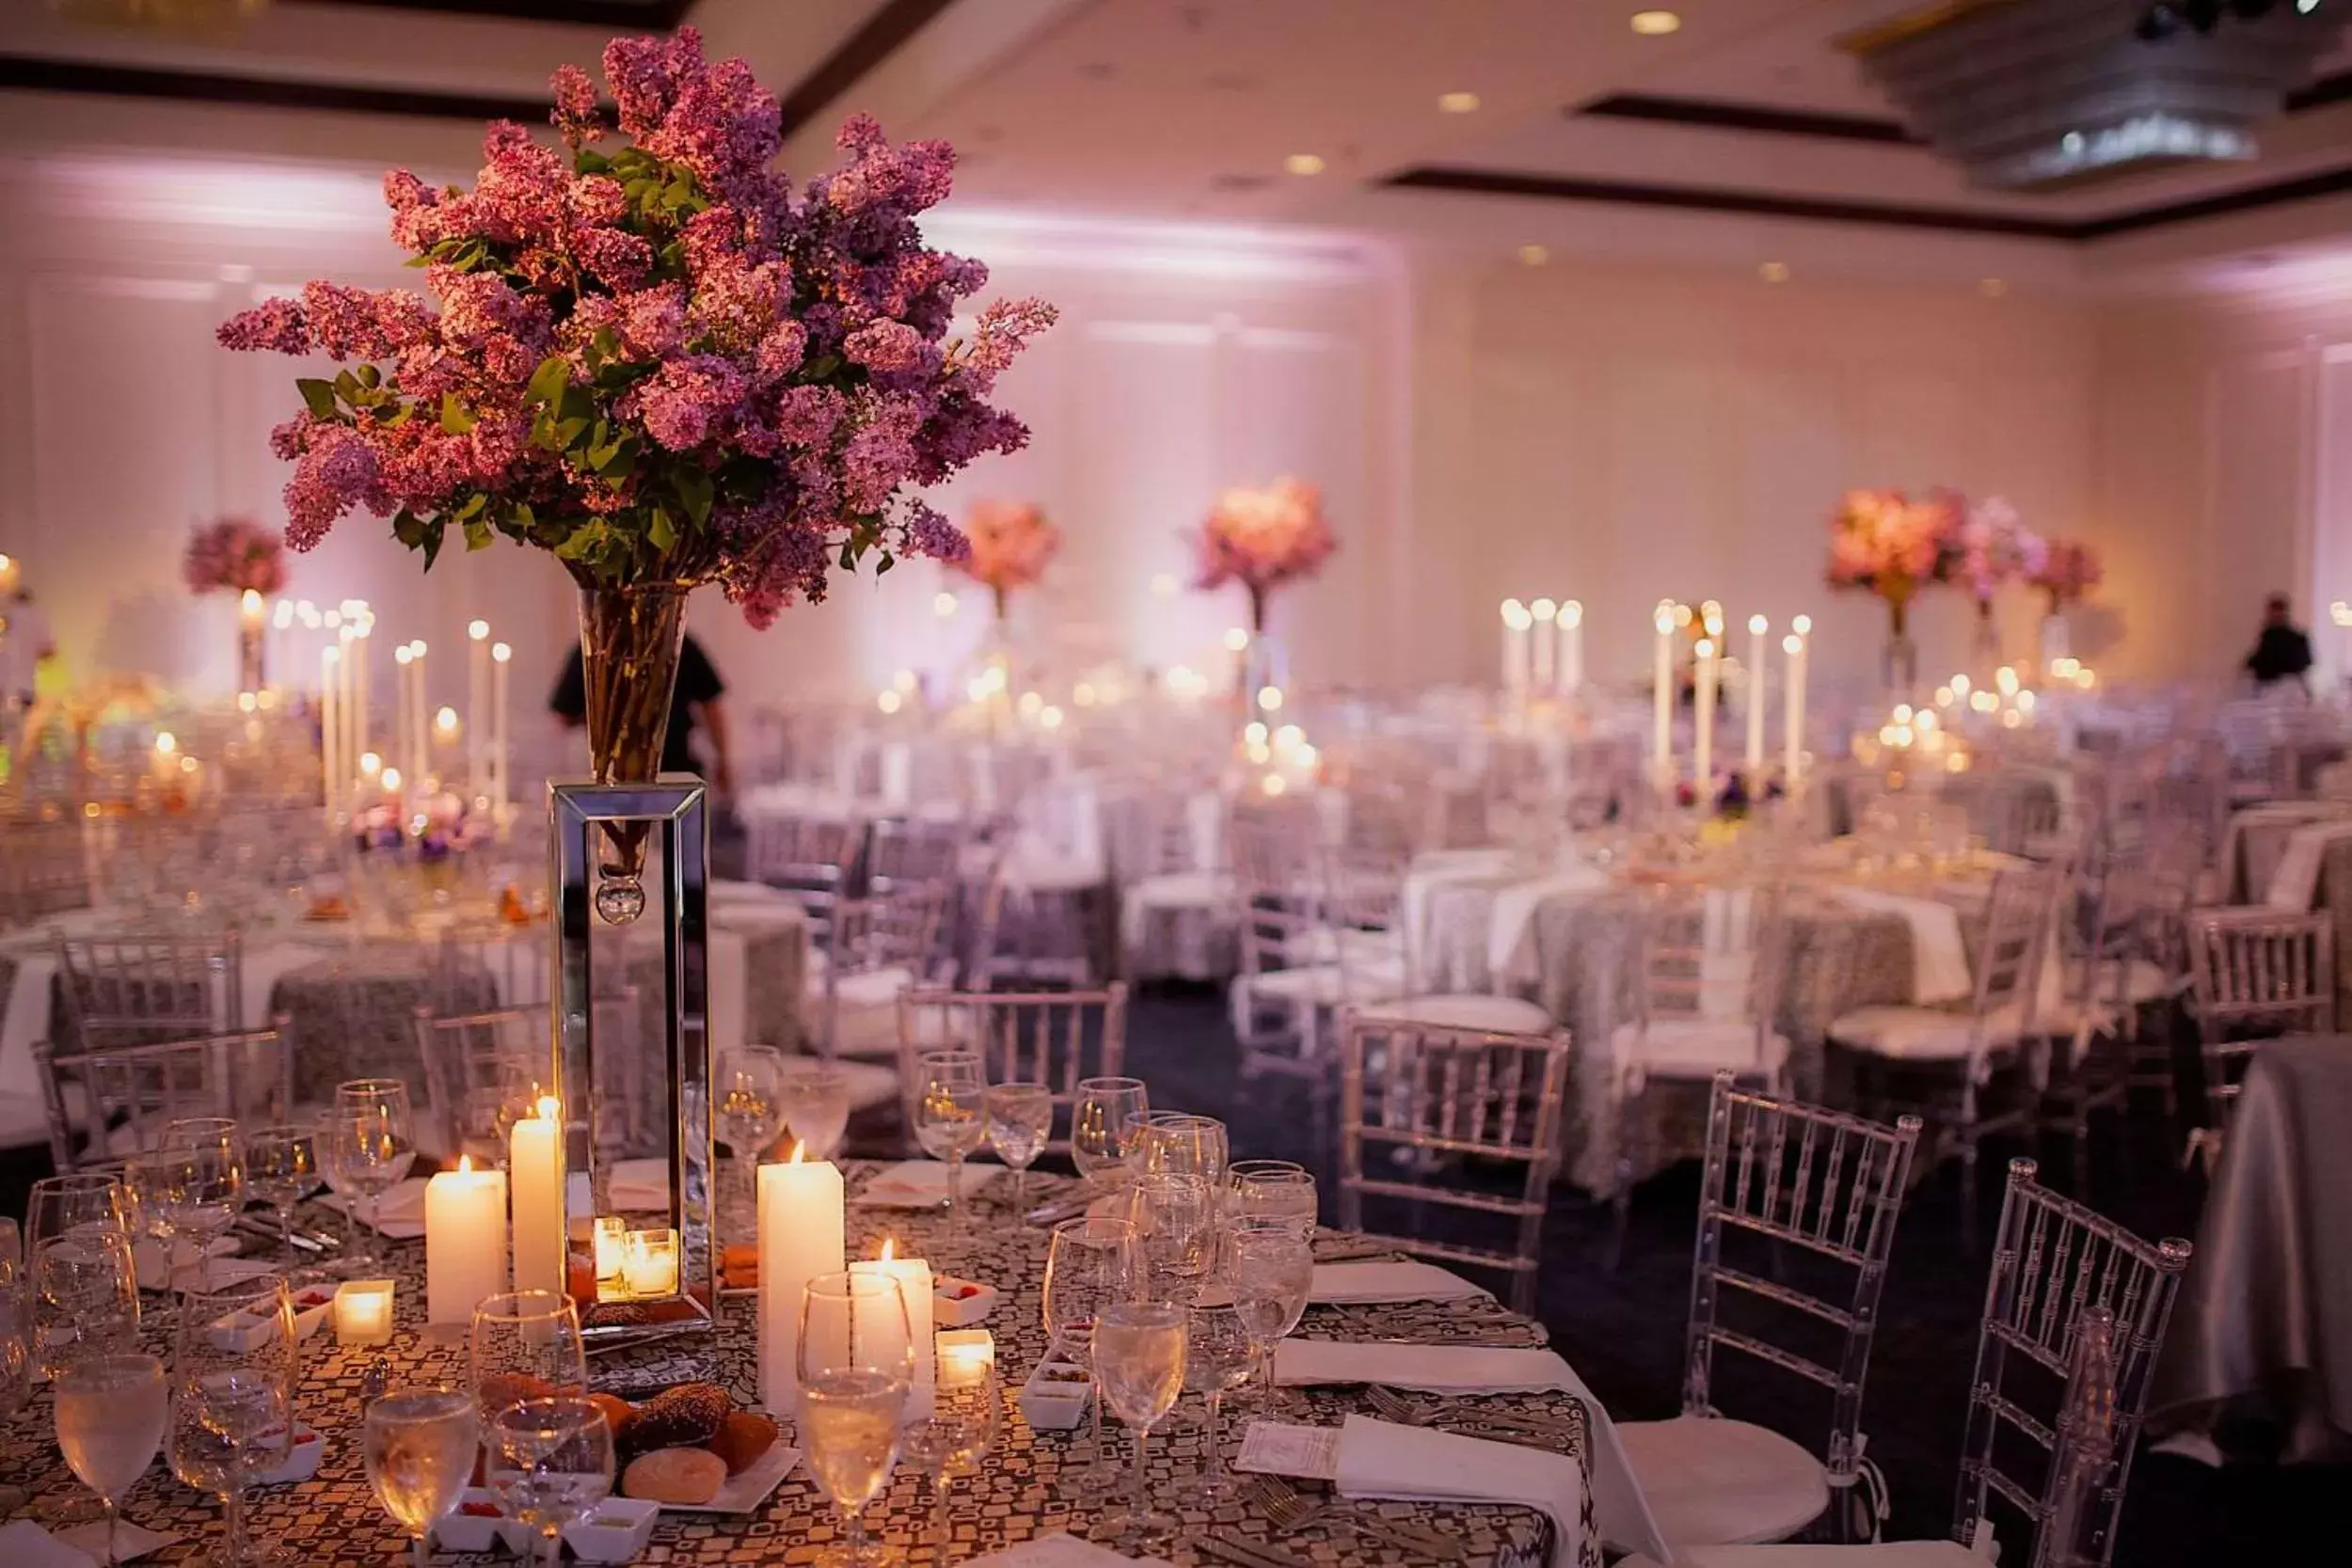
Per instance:
[[[868,1168],[851,1166],[851,1185],[868,1175]],[[1035,1182],[1033,1182],[1035,1190]],[[997,1340],[997,1366],[1004,1378],[1004,1425],[995,1453],[981,1465],[981,1474],[955,1483],[950,1505],[953,1544],[941,1549],[929,1528],[929,1493],[910,1469],[898,1469],[884,1495],[866,1512],[866,1523],[875,1537],[906,1552],[913,1568],[931,1563],[964,1561],[983,1552],[1047,1535],[1054,1530],[1087,1533],[1098,1507],[1115,1502],[1112,1495],[1082,1490],[1065,1469],[1084,1465],[1089,1446],[1087,1427],[1075,1432],[1035,1432],[1021,1418],[1018,1385],[1042,1359],[1047,1342],[1042,1331],[1042,1288],[1047,1232],[1014,1222],[1009,1211],[993,1206],[985,1197],[967,1229],[950,1232],[934,1213],[908,1211],[849,1211],[851,1255],[873,1255],[884,1234],[896,1237],[903,1251],[917,1251],[931,1260],[934,1269],[953,1269],[962,1276],[983,1279],[1002,1291],[1002,1300],[985,1326]],[[308,1211],[306,1211],[308,1213]],[[308,1213],[315,1225],[334,1225],[325,1211]],[[734,1234],[734,1232],[727,1232]],[[273,1486],[252,1493],[249,1519],[256,1540],[285,1547],[303,1568],[341,1568],[367,1563],[395,1563],[405,1556],[405,1542],[395,1535],[388,1516],[376,1505],[367,1483],[358,1441],[358,1392],[367,1363],[383,1354],[390,1361],[390,1387],[421,1382],[466,1380],[466,1347],[456,1342],[426,1342],[419,1333],[423,1312],[423,1246],[419,1241],[388,1244],[390,1274],[397,1279],[395,1316],[397,1333],[381,1352],[339,1349],[332,1328],[320,1331],[306,1345],[306,1375],[296,1399],[301,1420],[327,1434],[327,1455],[315,1479],[299,1486]],[[1456,1321],[1463,1302],[1435,1307],[1312,1307],[1301,1326],[1305,1335],[1319,1338],[1374,1338],[1397,1333],[1423,1333],[1430,1326]],[[1482,1305],[1482,1326],[1501,1319],[1501,1307]],[[174,1314],[158,1309],[148,1298],[143,1331],[148,1347],[169,1356]],[[1404,1324],[1399,1328],[1399,1324]],[[1543,1331],[1524,1319],[1515,1321],[1519,1338],[1529,1345],[1543,1342]],[[757,1387],[753,1345],[753,1302],[746,1298],[722,1300],[722,1333],[717,1338],[720,1380],[743,1403],[753,1401]],[[593,1371],[593,1368],[590,1368]],[[1362,1410],[1359,1389],[1294,1389],[1310,1406],[1317,1425],[1338,1425],[1350,1410]],[[1508,1396],[1515,1410],[1548,1410],[1559,1418],[1578,1418],[1566,1394]],[[1232,1406],[1242,1406],[1235,1399]],[[33,1493],[75,1495],[80,1488],[59,1460],[52,1439],[54,1418],[47,1389],[35,1392],[33,1403],[0,1429],[0,1483],[24,1486]],[[1235,1441],[1240,1425],[1235,1408],[1228,1408],[1228,1441]],[[1117,1422],[1105,1422],[1110,1458],[1124,1467],[1131,1458],[1131,1439]],[[1150,1486],[1155,1502],[1171,1509],[1183,1530],[1164,1556],[1178,1566],[1214,1561],[1195,1544],[1204,1533],[1230,1533],[1256,1544],[1275,1544],[1301,1563],[1315,1568],[1388,1568],[1390,1563],[1421,1563],[1378,1542],[1364,1542],[1345,1530],[1308,1528],[1296,1535],[1275,1535],[1263,1514],[1242,1502],[1218,1502],[1202,1507],[1188,1500],[1188,1481],[1197,1474],[1202,1458],[1202,1420],[1197,1396],[1185,1396],[1178,1413],[1152,1434]],[[1583,1455],[1578,1455],[1583,1458]],[[1590,1474],[1590,1460],[1585,1460]],[[1124,1483],[1124,1469],[1120,1481]],[[1590,1497],[1590,1488],[1588,1488]],[[1461,1540],[1470,1552],[1470,1568],[1541,1568],[1550,1559],[1552,1526],[1536,1509],[1498,1505],[1428,1505],[1383,1502],[1374,1505],[1392,1519],[1411,1519],[1442,1528]],[[181,1535],[179,1542],[155,1552],[143,1563],[172,1566],[195,1563],[219,1540],[219,1502],[179,1483],[162,1465],[132,1490],[125,1519],[151,1530]],[[1588,1505],[1590,1516],[1590,1505]],[[795,1469],[769,1495],[769,1500],[746,1516],[673,1514],[656,1530],[652,1547],[640,1554],[640,1563],[715,1568],[720,1563],[807,1563],[818,1547],[837,1540],[833,1507],[821,1497],[804,1469]],[[1562,1563],[1592,1563],[1599,1554],[1590,1542],[1578,1542],[1571,1554],[1559,1554]],[[435,1563],[487,1566],[513,1559],[494,1554],[435,1554]]]

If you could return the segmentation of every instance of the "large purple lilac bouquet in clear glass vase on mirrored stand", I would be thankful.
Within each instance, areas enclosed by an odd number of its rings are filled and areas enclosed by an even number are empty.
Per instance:
[[[473,190],[386,176],[430,301],[310,282],[219,336],[350,362],[299,381],[303,411],[270,433],[296,550],[365,508],[428,569],[452,536],[562,562],[593,769],[628,783],[661,759],[689,590],[767,625],[866,557],[962,559],[906,487],[1028,442],[988,395],[1054,310],[993,303],[948,339],[988,268],[915,228],[948,195],[946,143],[854,118],[842,167],[795,197],[769,167],[776,99],[694,28],[614,40],[604,80],[619,127],[588,73],[555,73],[562,153],[499,122]],[[635,877],[642,835],[612,839],[604,875]]]

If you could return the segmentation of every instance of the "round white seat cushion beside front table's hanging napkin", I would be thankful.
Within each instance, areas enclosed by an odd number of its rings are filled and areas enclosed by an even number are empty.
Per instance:
[[[1616,1432],[1677,1561],[1684,1547],[1788,1540],[1830,1507],[1820,1460],[1766,1427],[1677,1415]]]

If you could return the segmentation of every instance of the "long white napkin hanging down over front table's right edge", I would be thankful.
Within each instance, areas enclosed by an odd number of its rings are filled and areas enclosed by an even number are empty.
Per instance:
[[[1275,1382],[1385,1382],[1430,1394],[1526,1394],[1559,1389],[1585,1401],[1592,1418],[1592,1512],[1609,1540],[1632,1542],[1661,1563],[1672,1561],[1642,1483],[1625,1462],[1616,1425],[1592,1389],[1550,1349],[1491,1349],[1484,1345],[1345,1345],[1282,1340]]]

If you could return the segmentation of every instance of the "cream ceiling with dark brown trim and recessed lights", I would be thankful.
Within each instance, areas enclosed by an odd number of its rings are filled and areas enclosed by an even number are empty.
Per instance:
[[[482,118],[536,118],[555,63],[689,19],[779,92],[790,167],[856,106],[950,136],[962,197],[990,207],[1484,254],[2025,256],[2020,275],[2345,230],[2352,47],[2253,162],[1992,193],[1907,141],[1832,42],[1917,7],[1682,0],[1682,28],[1644,38],[1635,0],[278,0],[207,38],[7,0],[0,155],[143,141],[461,169]],[[1449,92],[1477,108],[1442,110]]]

